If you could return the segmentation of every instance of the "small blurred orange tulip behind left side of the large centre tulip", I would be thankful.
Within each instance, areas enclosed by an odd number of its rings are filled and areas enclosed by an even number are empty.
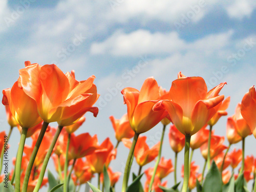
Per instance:
[[[110,116],[112,126],[116,133],[117,141],[121,141],[122,138],[132,138],[134,136],[134,131],[130,125],[127,113],[124,114],[121,119],[115,119],[114,116]]]

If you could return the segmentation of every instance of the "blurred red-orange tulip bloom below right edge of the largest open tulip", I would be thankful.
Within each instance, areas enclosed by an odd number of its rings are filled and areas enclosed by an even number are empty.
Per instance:
[[[97,135],[93,137],[89,133],[82,133],[75,136],[74,133],[70,137],[70,146],[68,160],[78,159],[92,154],[98,148]],[[66,150],[63,150],[66,151]]]

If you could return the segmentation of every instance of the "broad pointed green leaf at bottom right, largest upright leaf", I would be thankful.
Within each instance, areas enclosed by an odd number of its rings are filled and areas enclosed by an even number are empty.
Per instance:
[[[212,161],[211,167],[205,177],[203,184],[204,192],[222,192],[222,180],[219,169],[215,163]]]

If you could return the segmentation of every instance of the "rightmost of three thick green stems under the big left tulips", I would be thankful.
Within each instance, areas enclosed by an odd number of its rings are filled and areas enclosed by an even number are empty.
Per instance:
[[[42,163],[40,175],[39,175],[39,177],[38,177],[38,181],[37,181],[37,183],[36,183],[36,186],[35,186],[33,192],[38,192],[39,189],[40,189],[40,187],[41,187],[42,180],[44,179],[44,175],[45,175],[45,172],[46,172],[47,164],[48,164],[48,162],[49,162],[49,159],[50,159],[50,157],[51,157],[53,148],[54,148],[54,146],[55,146],[55,143],[57,142],[57,139],[58,139],[58,137],[59,137],[59,134],[60,134],[62,128],[63,128],[63,126],[58,126],[58,129],[57,129],[57,131],[56,131],[56,133],[55,133],[55,135],[54,135],[54,137],[53,137],[52,143],[51,143],[51,145],[50,145],[50,147],[49,147],[49,150],[48,150],[48,152],[47,152],[47,154],[46,154],[45,160],[44,160],[44,162]]]

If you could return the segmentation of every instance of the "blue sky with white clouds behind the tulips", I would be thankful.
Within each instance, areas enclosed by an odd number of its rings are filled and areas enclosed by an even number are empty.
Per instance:
[[[78,80],[95,75],[101,95],[96,103],[99,114],[97,118],[86,114],[77,134],[97,134],[100,143],[106,136],[116,143],[109,116],[121,118],[126,112],[120,91],[140,89],[150,76],[167,90],[179,71],[203,77],[208,89],[226,81],[221,94],[231,96],[230,116],[249,87],[256,84],[255,8],[253,0],[1,0],[0,87],[13,85],[26,60],[40,65],[55,63],[64,73],[75,70]],[[8,130],[4,106],[0,119],[1,130]],[[159,124],[143,134],[148,142],[156,143],[161,127]],[[225,136],[226,117],[214,129],[215,134]],[[164,139],[164,156],[174,159],[167,134]],[[13,156],[17,140],[15,130],[10,140]],[[249,146],[255,142],[253,136],[246,139],[246,155],[253,154]],[[122,144],[119,147],[111,166],[123,172],[128,150]],[[196,154],[196,164],[202,164],[200,152]],[[178,167],[182,156],[183,152]],[[145,168],[149,166],[154,163]],[[134,165],[136,173],[137,168]],[[167,179],[172,186],[173,174]],[[122,176],[119,190],[121,180]]]

